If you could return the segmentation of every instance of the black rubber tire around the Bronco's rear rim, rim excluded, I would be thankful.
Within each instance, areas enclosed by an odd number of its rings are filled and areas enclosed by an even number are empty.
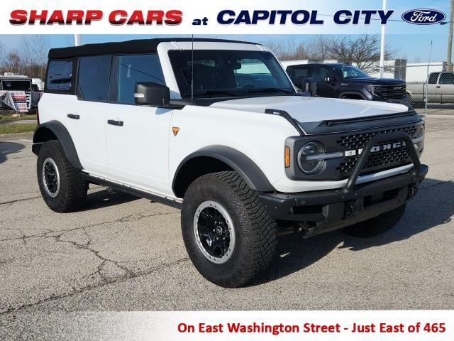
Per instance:
[[[60,178],[60,190],[55,197],[50,196],[43,183],[43,162],[51,158],[57,165]],[[82,173],[74,168],[65,155],[60,141],[46,141],[38,153],[36,175],[41,195],[45,203],[55,212],[70,212],[79,209],[87,197],[88,183]]]

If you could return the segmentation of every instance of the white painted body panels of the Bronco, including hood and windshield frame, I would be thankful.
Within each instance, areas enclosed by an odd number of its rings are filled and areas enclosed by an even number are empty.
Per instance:
[[[189,42],[158,45],[165,83],[173,99],[180,99],[181,95],[168,51],[191,48]],[[194,50],[198,49],[267,50],[261,45],[196,42]],[[85,172],[177,201],[182,199],[172,192],[172,179],[179,164],[194,151],[214,145],[228,146],[247,155],[279,192],[299,193],[343,187],[347,180],[287,178],[281,162],[282,148],[285,139],[297,135],[298,131],[282,117],[263,114],[266,108],[286,110],[297,120],[309,122],[321,117],[372,117],[408,110],[401,104],[279,96],[226,100],[207,107],[187,105],[182,109],[161,109],[85,102],[77,99],[75,94],[45,93],[39,104],[40,123],[50,120],[66,122]],[[68,119],[68,113],[79,114],[80,120]],[[106,124],[110,118],[123,120],[122,129]],[[173,126],[181,128],[177,136],[172,134]],[[409,168],[411,165],[365,175],[358,181],[377,180],[403,173]]]

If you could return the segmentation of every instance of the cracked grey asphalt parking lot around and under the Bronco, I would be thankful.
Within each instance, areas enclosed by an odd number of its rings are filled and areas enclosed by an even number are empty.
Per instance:
[[[454,116],[426,121],[430,171],[397,227],[282,237],[265,276],[239,289],[196,272],[178,210],[93,187],[84,210],[57,214],[40,197],[31,141],[2,141],[0,332],[74,311],[453,309]]]

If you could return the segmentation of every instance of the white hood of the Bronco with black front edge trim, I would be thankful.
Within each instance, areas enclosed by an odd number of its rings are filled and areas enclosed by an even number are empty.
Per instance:
[[[305,134],[370,129],[421,119],[403,104],[321,97],[253,97],[216,102],[210,107],[260,113],[265,109],[284,110]]]

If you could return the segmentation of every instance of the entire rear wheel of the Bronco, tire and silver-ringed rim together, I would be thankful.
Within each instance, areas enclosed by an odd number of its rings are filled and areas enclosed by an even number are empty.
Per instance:
[[[46,141],[41,146],[36,175],[41,195],[51,210],[69,212],[83,205],[88,183],[68,161],[60,141]]]

